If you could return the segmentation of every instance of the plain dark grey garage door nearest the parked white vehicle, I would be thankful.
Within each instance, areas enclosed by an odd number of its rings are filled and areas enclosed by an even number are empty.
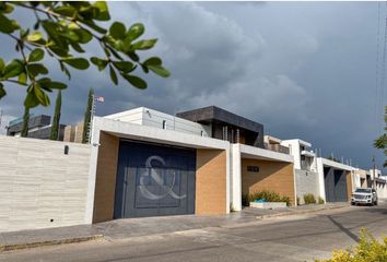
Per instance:
[[[327,202],[347,202],[347,176],[343,170],[324,168],[325,191]]]

